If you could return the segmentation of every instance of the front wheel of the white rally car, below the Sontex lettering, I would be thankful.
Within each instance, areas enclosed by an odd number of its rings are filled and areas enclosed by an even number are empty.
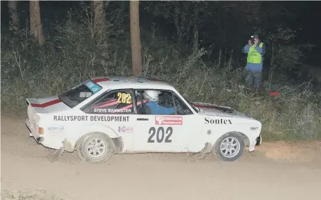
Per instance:
[[[212,154],[222,161],[237,161],[242,156],[244,147],[241,134],[229,132],[217,140],[212,148]]]

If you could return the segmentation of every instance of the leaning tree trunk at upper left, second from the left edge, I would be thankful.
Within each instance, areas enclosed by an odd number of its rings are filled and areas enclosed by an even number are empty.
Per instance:
[[[39,1],[30,1],[30,33],[38,39],[39,46],[44,44],[42,19],[40,17]]]

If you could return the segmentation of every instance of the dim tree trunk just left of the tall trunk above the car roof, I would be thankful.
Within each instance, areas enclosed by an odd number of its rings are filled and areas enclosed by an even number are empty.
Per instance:
[[[93,1],[93,10],[95,12],[93,28],[98,35],[102,35],[105,30],[104,1]]]

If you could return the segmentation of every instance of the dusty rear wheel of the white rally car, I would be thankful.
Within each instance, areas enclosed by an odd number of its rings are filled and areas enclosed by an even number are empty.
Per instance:
[[[77,143],[77,154],[88,163],[103,163],[113,155],[113,140],[102,132],[86,134]]]

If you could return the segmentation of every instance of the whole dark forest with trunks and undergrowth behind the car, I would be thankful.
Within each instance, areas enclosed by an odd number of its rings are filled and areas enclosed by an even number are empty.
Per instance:
[[[93,77],[143,76],[252,115],[265,140],[320,139],[321,40],[304,21],[319,4],[1,1],[1,110],[26,112],[26,98]],[[253,33],[267,46],[259,92],[243,75]]]

